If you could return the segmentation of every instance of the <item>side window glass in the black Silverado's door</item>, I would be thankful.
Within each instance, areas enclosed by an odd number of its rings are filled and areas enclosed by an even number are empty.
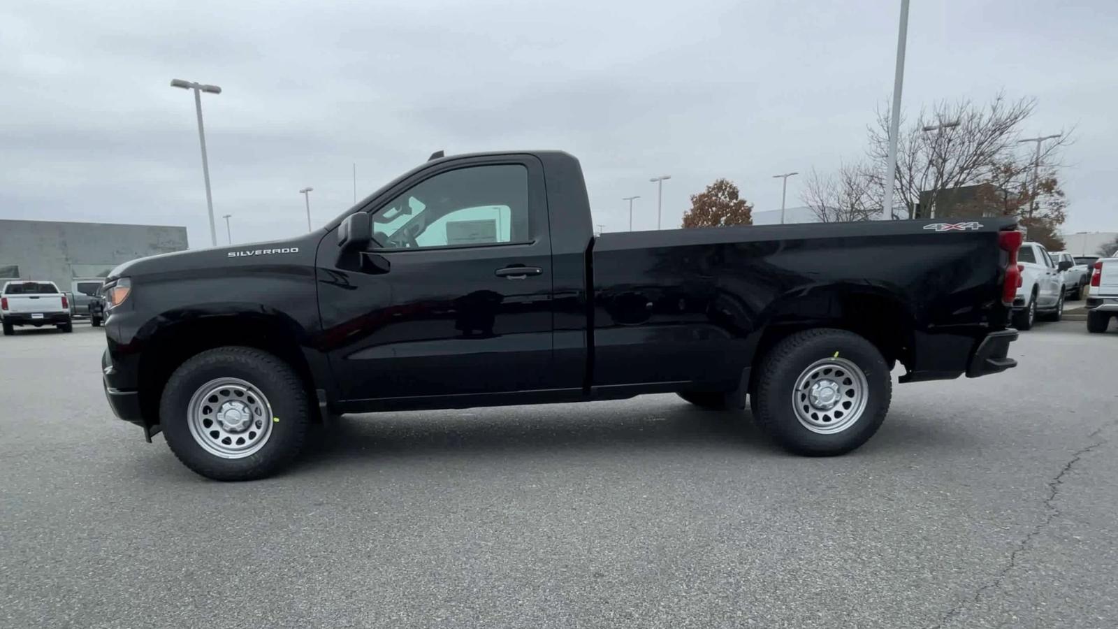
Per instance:
[[[474,166],[402,193],[372,215],[372,232],[386,248],[434,248],[528,242],[529,223],[528,169]]]

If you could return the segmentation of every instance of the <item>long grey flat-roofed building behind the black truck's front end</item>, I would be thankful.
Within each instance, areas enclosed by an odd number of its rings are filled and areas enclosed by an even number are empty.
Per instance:
[[[50,280],[72,291],[130,260],[186,248],[186,227],[0,219],[0,283]]]

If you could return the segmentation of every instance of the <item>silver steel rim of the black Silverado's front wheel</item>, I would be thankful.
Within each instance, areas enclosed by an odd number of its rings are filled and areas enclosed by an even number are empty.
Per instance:
[[[222,459],[244,459],[272,435],[272,405],[250,383],[217,378],[190,397],[187,424],[203,450]]]

